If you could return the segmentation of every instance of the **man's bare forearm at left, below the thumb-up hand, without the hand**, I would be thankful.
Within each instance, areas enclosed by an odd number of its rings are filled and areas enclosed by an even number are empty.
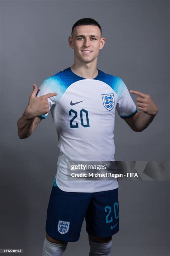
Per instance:
[[[18,136],[20,139],[28,138],[34,131],[34,119],[27,110],[24,111],[22,117],[18,120]]]

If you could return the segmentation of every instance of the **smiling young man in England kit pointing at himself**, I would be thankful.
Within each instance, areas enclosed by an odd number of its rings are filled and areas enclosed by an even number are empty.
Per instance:
[[[39,89],[33,84],[18,120],[18,136],[27,138],[51,110],[59,138],[61,154],[47,209],[43,256],[60,256],[68,242],[79,240],[84,217],[89,256],[110,255],[112,235],[119,230],[118,182],[68,180],[67,162],[114,161],[115,108],[136,132],[143,131],[158,112],[148,94],[130,91],[138,96],[136,107],[121,78],[96,68],[104,44],[98,22],[77,21],[69,37],[74,65],[44,80]]]

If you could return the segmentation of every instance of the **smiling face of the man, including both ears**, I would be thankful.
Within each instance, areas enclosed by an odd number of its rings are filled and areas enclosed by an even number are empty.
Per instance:
[[[69,36],[69,45],[74,49],[75,61],[84,63],[93,62],[103,48],[105,38],[101,37],[101,32],[97,26],[77,26],[73,35]]]

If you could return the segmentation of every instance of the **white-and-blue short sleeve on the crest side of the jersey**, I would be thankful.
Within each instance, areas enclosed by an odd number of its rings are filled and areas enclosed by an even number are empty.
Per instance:
[[[116,109],[121,118],[129,118],[136,114],[137,107],[131,98],[126,84],[120,78],[120,95],[116,105]]]

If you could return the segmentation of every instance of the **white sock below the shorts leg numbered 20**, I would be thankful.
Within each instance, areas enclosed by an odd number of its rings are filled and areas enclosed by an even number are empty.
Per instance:
[[[110,256],[111,248],[112,248],[112,240],[108,243],[96,243],[89,240],[90,252],[89,256],[98,256],[105,255]]]

